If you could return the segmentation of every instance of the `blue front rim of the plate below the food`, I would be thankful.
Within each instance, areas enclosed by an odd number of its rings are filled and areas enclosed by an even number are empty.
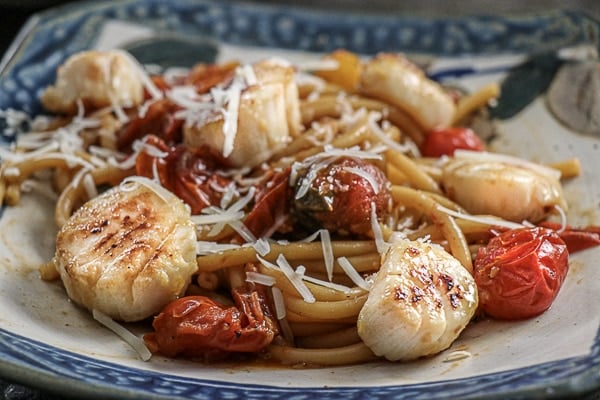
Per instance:
[[[9,343],[12,343],[10,345]],[[573,396],[587,393],[598,389],[597,374],[600,371],[600,331],[597,335],[595,345],[591,349],[589,356],[570,357],[556,361],[545,362],[531,367],[522,367],[510,369],[502,372],[487,373],[475,375],[469,378],[451,379],[443,381],[434,381],[426,383],[403,384],[403,385],[385,385],[385,386],[335,386],[335,387],[283,387],[268,384],[240,384],[236,382],[217,381],[210,379],[199,379],[190,377],[181,377],[175,374],[165,374],[156,371],[138,369],[135,367],[123,366],[116,363],[94,359],[93,357],[78,354],[68,350],[56,348],[38,340],[30,339],[22,335],[14,334],[0,328],[0,356],[10,358],[8,362],[0,359],[0,372],[7,373],[11,379],[22,381],[35,387],[44,389],[51,388],[57,393],[61,389],[69,390],[70,394],[86,395],[87,397],[100,396],[103,398],[120,399],[237,399],[240,395],[244,399],[285,399],[291,394],[316,396],[320,399],[354,399],[357,393],[368,395],[372,399],[456,399],[463,398],[458,396],[476,395],[481,400],[490,399],[511,399],[511,398],[530,398],[529,396],[540,397],[543,395]],[[57,356],[63,364],[53,365],[39,362],[34,365],[33,362],[27,363],[25,359],[47,356],[48,354]],[[588,359],[594,358],[594,368],[588,368],[586,363]],[[66,361],[65,361],[66,360]],[[6,363],[7,365],[2,365]],[[571,366],[567,366],[571,363]],[[92,370],[93,379],[85,379],[78,376],[70,367],[77,365],[78,370],[82,367],[85,371]],[[577,365],[580,372],[571,374],[573,366]],[[8,368],[11,368],[10,370]],[[543,370],[543,380],[539,380],[537,385],[528,385],[515,387],[519,379],[527,373],[537,373]],[[65,372],[65,371],[68,371]],[[571,372],[571,373],[570,373]],[[108,377],[119,377],[119,382],[106,380]],[[138,385],[143,382],[141,377],[145,377],[151,382],[148,387],[132,387],[132,383]],[[83,378],[83,379],[82,379]],[[129,379],[128,379],[129,378]],[[185,393],[177,395],[166,395],[161,393],[164,387],[170,383],[177,383],[179,390],[185,389]],[[574,382],[577,387],[574,387]],[[50,386],[43,386],[51,383]],[[544,383],[543,387],[539,383]],[[485,393],[480,391],[473,392],[469,384],[478,385],[479,389],[484,388]],[[152,389],[157,390],[153,392]],[[64,392],[63,392],[64,393]],[[143,396],[143,397],[140,397]],[[206,397],[208,396],[208,397]],[[307,397],[310,399],[312,397]]]

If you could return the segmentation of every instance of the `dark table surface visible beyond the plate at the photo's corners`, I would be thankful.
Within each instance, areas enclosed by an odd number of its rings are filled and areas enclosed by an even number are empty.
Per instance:
[[[0,54],[3,54],[8,46],[12,43],[17,32],[21,26],[25,23],[27,18],[35,12],[42,11],[48,7],[52,7],[61,3],[66,3],[64,0],[0,0]],[[262,0],[262,3],[278,3],[281,0]],[[399,2],[396,0],[375,0],[369,3],[370,11],[376,12],[388,12],[394,11],[397,13],[415,12],[415,8],[411,7],[413,1]],[[593,16],[600,18],[600,1],[597,0],[571,0],[565,2],[564,0],[529,0],[529,1],[505,1],[490,3],[486,0],[460,0],[461,7],[457,7],[456,1],[438,1],[438,0],[419,0],[421,7],[419,10],[431,13],[434,12],[439,15],[449,15],[452,13],[460,13],[460,10],[469,10],[470,13],[487,12],[489,5],[493,3],[494,9],[499,13],[518,13],[518,12],[532,12],[540,7],[545,9],[552,7],[562,7],[565,3],[568,4],[569,8],[585,10]],[[435,3],[435,7],[433,4]],[[302,4],[304,6],[312,8],[323,8],[323,7],[343,7],[346,10],[359,10],[364,7],[362,0],[329,0],[323,2],[321,0],[303,0],[295,2],[294,4]],[[423,7],[423,4],[425,6]],[[427,7],[427,4],[431,4],[432,7]],[[464,13],[464,11],[463,11]],[[0,379],[0,400],[66,400],[68,397],[57,396],[50,392],[40,391],[34,388],[26,387],[18,383],[6,381]],[[579,398],[569,397],[573,400],[600,400],[600,390],[594,393],[589,393]]]

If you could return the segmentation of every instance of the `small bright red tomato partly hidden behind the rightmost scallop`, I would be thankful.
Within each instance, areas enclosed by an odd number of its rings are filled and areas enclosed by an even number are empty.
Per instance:
[[[451,156],[456,149],[483,151],[485,145],[469,128],[451,127],[429,132],[421,145],[424,157]]]

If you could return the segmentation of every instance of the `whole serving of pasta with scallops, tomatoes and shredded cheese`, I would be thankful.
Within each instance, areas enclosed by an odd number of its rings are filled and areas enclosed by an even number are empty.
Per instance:
[[[143,359],[414,360],[477,319],[545,312],[569,254],[600,243],[566,221],[577,159],[495,153],[469,128],[498,95],[401,54],[150,74],[85,51],[42,92],[46,115],[1,111],[0,198],[51,181],[42,279]]]

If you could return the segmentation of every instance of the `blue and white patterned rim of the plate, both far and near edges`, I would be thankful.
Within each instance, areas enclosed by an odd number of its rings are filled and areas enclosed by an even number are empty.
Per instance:
[[[39,110],[39,90],[71,54],[94,47],[107,21],[152,30],[162,44],[200,44],[208,59],[218,42],[240,46],[359,53],[379,51],[455,56],[531,53],[600,43],[600,23],[587,15],[418,19],[332,15],[275,6],[209,1],[86,2],[40,14],[24,28],[0,66],[0,109]],[[165,39],[166,38],[166,39]],[[143,43],[131,37],[139,50]],[[213,41],[214,40],[214,41]],[[137,44],[136,44],[137,43]],[[140,44],[142,43],[142,44]],[[199,54],[194,54],[198,59]],[[173,56],[175,57],[175,56]],[[193,379],[122,366],[0,329],[0,372],[74,396],[156,399],[450,399],[531,398],[580,393],[600,380],[600,333],[585,356],[465,379],[385,386],[294,388]]]

